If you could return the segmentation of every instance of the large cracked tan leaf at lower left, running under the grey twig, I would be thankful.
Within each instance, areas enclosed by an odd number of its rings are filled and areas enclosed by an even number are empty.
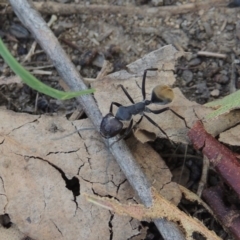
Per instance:
[[[81,194],[108,194],[125,202],[134,199],[133,190],[99,134],[89,130],[53,140],[73,132],[75,126],[91,127],[89,121],[0,111],[0,214],[9,214],[20,231],[33,239],[105,239],[110,235],[109,223],[113,239],[140,234],[138,227],[132,227],[139,226],[138,221],[112,217],[90,206]],[[171,174],[158,154],[147,145],[129,144],[134,145],[133,154],[143,162],[142,167],[155,170],[149,182],[155,182],[154,186],[177,204],[180,191],[171,183]],[[70,180],[79,182],[80,195],[75,197],[66,187]]]

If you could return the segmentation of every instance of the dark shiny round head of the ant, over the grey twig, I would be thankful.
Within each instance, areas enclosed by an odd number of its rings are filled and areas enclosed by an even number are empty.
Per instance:
[[[112,113],[108,113],[101,122],[100,133],[104,138],[111,138],[121,132],[123,123],[113,116]]]

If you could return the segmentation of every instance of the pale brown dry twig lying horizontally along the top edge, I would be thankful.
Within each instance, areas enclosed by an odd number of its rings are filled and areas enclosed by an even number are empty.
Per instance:
[[[180,6],[164,7],[129,7],[129,6],[109,6],[109,5],[82,5],[82,4],[61,4],[56,2],[34,2],[34,7],[41,13],[46,14],[121,14],[121,15],[142,15],[149,17],[167,17],[174,14],[184,14],[198,11],[214,6],[226,5],[225,0],[211,0],[203,2],[188,3]],[[7,11],[10,11],[8,9]]]

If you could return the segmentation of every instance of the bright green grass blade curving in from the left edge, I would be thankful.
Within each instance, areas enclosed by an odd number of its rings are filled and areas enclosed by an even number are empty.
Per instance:
[[[38,92],[44,93],[53,98],[65,100],[95,92],[95,89],[86,89],[78,92],[63,92],[47,86],[46,84],[42,83],[37,78],[35,78],[30,72],[24,69],[16,61],[16,59],[11,55],[11,53],[4,45],[1,38],[0,38],[0,55],[3,57],[4,61],[9,65],[9,67],[13,70],[13,72],[15,72],[15,74],[17,74],[24,83],[26,83],[29,87],[37,90]]]

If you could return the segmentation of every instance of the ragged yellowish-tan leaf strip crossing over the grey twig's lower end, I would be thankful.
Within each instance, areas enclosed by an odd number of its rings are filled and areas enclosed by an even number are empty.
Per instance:
[[[119,215],[131,216],[139,220],[166,218],[169,221],[173,221],[183,229],[187,240],[193,239],[192,235],[194,232],[201,233],[208,240],[220,240],[213,231],[209,231],[199,220],[191,218],[180,211],[176,206],[159,195],[154,188],[152,188],[154,202],[150,208],[146,208],[141,204],[122,205],[115,199],[100,198],[89,194],[85,194],[85,196],[88,201],[114,211]]]

